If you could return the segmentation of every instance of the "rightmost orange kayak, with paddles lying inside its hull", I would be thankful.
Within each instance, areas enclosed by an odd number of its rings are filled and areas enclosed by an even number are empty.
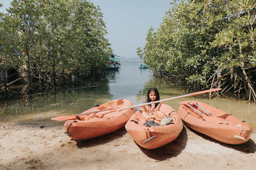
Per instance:
[[[178,113],[188,127],[223,143],[245,143],[252,134],[244,121],[200,101],[180,102]]]

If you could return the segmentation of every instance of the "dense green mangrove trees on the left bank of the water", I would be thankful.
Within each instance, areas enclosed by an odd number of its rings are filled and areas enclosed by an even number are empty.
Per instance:
[[[65,84],[63,76],[96,76],[112,52],[99,7],[85,0],[13,0],[0,31],[5,64],[40,90]]]

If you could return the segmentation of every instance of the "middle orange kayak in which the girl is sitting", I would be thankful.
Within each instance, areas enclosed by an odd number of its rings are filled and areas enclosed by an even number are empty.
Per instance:
[[[138,145],[146,149],[159,148],[175,140],[182,131],[183,124],[179,115],[167,104],[162,104],[160,111],[172,118],[172,124],[156,126],[145,124],[146,119],[141,115],[143,109],[136,111],[125,125],[126,131]],[[156,124],[159,121],[154,120]],[[146,122],[147,123],[147,122]]]

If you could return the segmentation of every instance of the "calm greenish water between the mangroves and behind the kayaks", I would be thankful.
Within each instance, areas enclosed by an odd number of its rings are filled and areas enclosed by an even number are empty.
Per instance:
[[[56,124],[51,120],[52,117],[81,113],[97,104],[113,99],[129,99],[133,104],[145,103],[147,90],[150,87],[157,87],[161,99],[187,94],[177,85],[152,78],[148,69],[140,70],[139,66],[140,64],[123,63],[119,72],[109,72],[106,80],[92,83],[92,87],[68,89],[44,96],[34,95],[29,96],[28,99],[1,101],[0,118],[25,124]],[[191,99],[232,113],[237,118],[245,120],[253,129],[256,128],[256,104],[240,101],[234,97],[209,99],[207,94],[201,94],[165,103],[177,110],[180,101]]]

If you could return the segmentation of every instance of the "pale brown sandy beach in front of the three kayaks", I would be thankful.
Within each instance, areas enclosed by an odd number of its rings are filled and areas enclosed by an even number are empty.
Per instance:
[[[255,169],[256,133],[226,145],[184,126],[155,150],[136,145],[125,128],[74,141],[60,124],[0,123],[0,169]]]

